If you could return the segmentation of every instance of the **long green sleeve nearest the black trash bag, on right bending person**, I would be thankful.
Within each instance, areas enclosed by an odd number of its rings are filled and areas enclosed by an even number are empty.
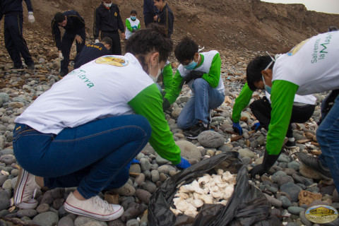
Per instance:
[[[299,86],[283,80],[273,81],[270,101],[270,125],[266,138],[268,155],[278,155],[283,146],[288,125],[290,124],[295,93]]]

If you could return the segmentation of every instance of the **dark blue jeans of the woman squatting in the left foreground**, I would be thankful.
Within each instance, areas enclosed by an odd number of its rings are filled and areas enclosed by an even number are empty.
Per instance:
[[[129,114],[65,128],[58,135],[16,124],[13,150],[23,169],[44,177],[44,186],[78,186],[84,198],[123,186],[129,162],[150,138],[145,117]]]

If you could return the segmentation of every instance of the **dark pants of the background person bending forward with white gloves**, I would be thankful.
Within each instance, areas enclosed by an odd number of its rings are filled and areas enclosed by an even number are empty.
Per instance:
[[[83,49],[86,41],[85,28],[80,32],[80,37],[83,39],[82,43],[76,42],[76,54],[79,54]],[[61,40],[61,53],[64,56],[64,60],[61,61],[61,72],[65,74],[69,73],[69,53],[71,52],[71,47],[76,38],[76,33],[74,32],[64,32],[64,36]]]

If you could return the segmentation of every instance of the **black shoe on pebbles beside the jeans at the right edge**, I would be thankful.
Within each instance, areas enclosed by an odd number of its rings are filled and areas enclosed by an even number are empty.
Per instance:
[[[323,176],[324,179],[332,179],[330,169],[328,168],[326,169],[326,167],[323,167],[321,165],[319,157],[312,157],[305,153],[296,153],[296,155],[299,161],[302,162],[302,164],[306,165],[307,167],[310,167],[311,169],[314,169],[316,172],[319,172],[319,174],[321,174],[321,176]]]

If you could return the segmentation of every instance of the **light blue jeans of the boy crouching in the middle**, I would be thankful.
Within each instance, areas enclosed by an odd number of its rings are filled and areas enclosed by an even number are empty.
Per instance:
[[[210,109],[219,107],[225,100],[225,93],[212,88],[203,78],[197,78],[193,83],[194,97],[191,97],[180,112],[177,126],[179,129],[189,129],[203,121],[208,124]]]

